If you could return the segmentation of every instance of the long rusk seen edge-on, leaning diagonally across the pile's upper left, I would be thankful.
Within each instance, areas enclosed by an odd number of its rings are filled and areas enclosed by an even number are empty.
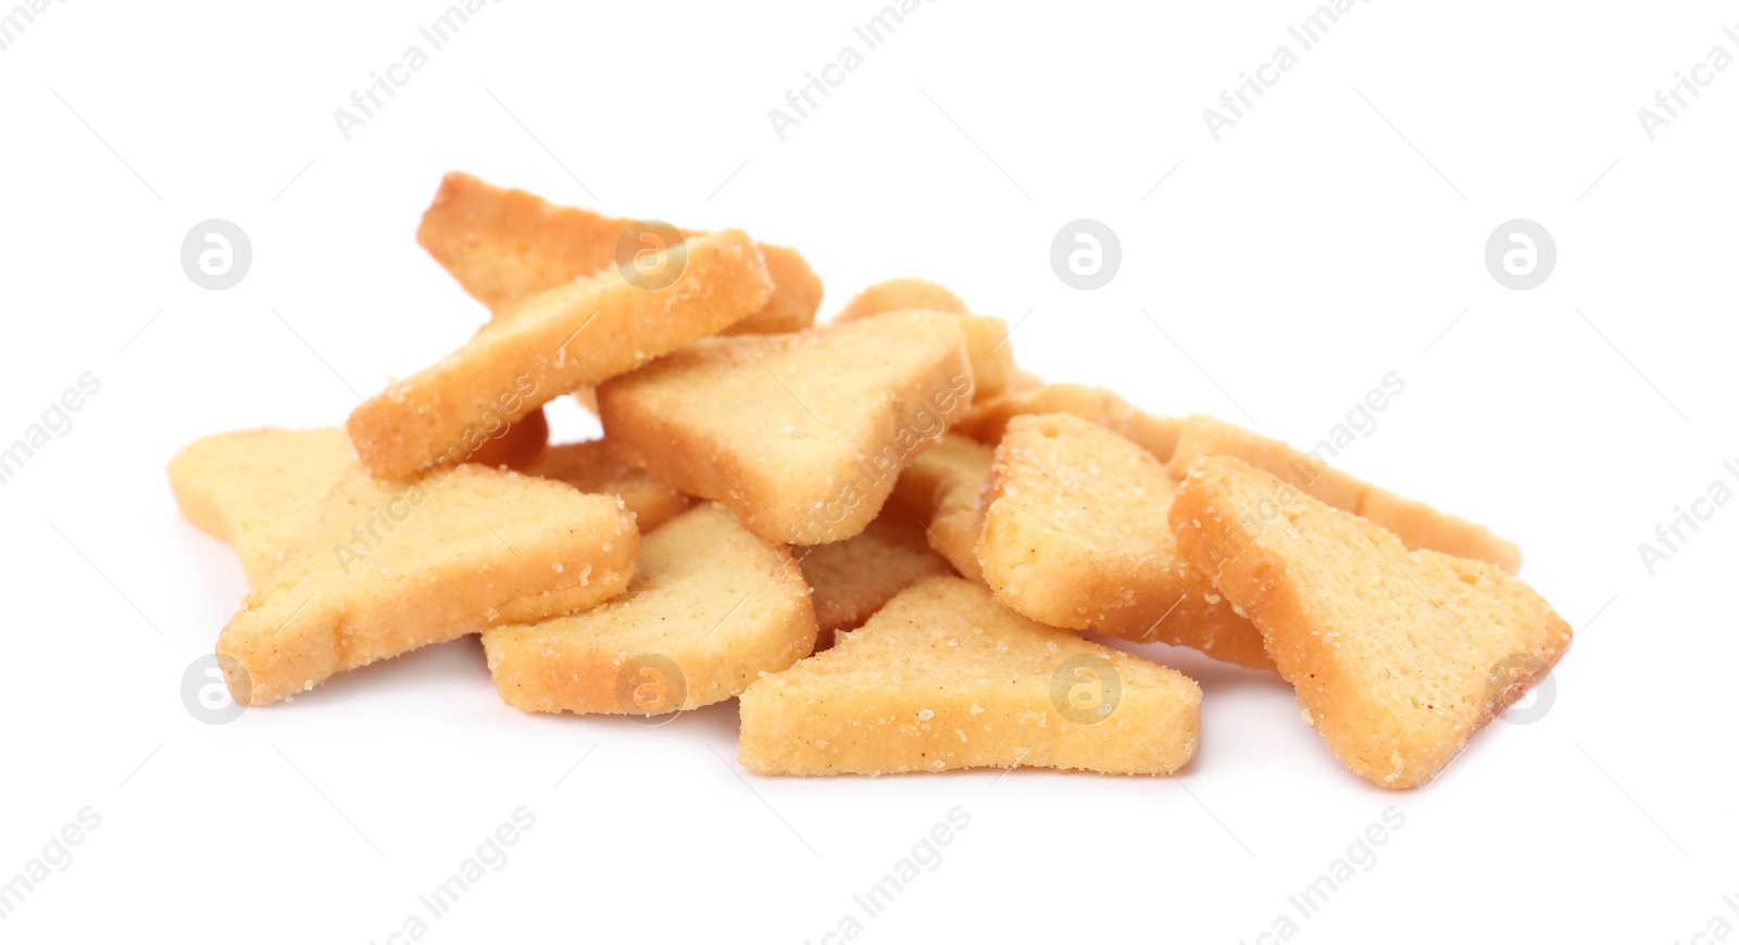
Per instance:
[[[661,288],[616,269],[525,299],[464,347],[391,384],[350,415],[350,436],[377,478],[402,478],[470,453],[480,431],[518,420],[586,384],[722,332],[765,304],[772,281],[739,229],[697,236],[682,276]],[[664,255],[659,266],[675,266]]]

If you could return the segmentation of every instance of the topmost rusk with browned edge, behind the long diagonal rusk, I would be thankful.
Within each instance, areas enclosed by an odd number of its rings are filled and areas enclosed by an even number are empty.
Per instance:
[[[476,301],[497,316],[539,292],[617,264],[617,241],[640,221],[558,207],[522,189],[506,189],[452,172],[423,212],[417,243]],[[683,238],[696,229],[678,229]],[[786,247],[756,243],[772,276],[772,295],[737,321],[734,332],[798,332],[816,320],[821,280]]]

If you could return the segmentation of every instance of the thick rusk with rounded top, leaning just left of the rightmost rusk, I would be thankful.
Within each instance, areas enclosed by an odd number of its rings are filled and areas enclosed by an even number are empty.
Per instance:
[[[1068,413],[1014,417],[984,486],[984,584],[1040,624],[1273,669],[1256,627],[1179,554],[1176,499],[1165,464],[1129,439]]]

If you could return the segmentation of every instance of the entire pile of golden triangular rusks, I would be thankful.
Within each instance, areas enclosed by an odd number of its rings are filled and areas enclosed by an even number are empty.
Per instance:
[[[1170,773],[1189,646],[1297,690],[1383,787],[1431,780],[1563,655],[1515,545],[1210,417],[1014,365],[896,280],[814,325],[802,255],[449,175],[423,247],[492,318],[346,429],[169,467],[250,594],[217,638],[263,705],[482,634],[529,712],[741,700],[762,773]],[[603,438],[550,446],[574,396]]]

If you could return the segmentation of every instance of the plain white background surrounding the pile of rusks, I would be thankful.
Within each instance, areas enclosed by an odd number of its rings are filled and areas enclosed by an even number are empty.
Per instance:
[[[426,49],[440,3],[71,0],[0,52],[0,441],[80,373],[103,384],[0,486],[0,879],[82,808],[103,818],[0,936],[386,942],[520,806],[536,827],[428,940],[821,942],[956,806],[970,827],[863,940],[1739,924],[1739,502],[1652,577],[1636,551],[1739,459],[1739,68],[1654,142],[1636,118],[1711,47],[1739,52],[1739,5],[1358,3],[1216,142],[1202,109],[1297,49],[1311,3],[941,0],[781,142],[767,109],[863,49],[876,9],[508,0],[348,142],[332,109]],[[1047,379],[1294,443],[1398,372],[1343,467],[1523,547],[1579,631],[1553,704],[1407,794],[1349,775],[1280,679],[1163,648],[1205,707],[1200,754],[1162,780],[760,778],[734,702],[663,728],[530,717],[475,639],[203,724],[181,676],[243,582],[163,464],[212,433],[339,422],[470,335],[482,307],[412,238],[450,169],[796,245],[824,313],[927,276],[1019,320]],[[210,217],[254,247],[228,292],[179,264]],[[1049,264],[1080,217],[1123,248],[1096,292]],[[1558,247],[1530,292],[1483,264],[1515,217]],[[1389,806],[1405,825],[1376,865],[1299,919],[1287,896]]]

